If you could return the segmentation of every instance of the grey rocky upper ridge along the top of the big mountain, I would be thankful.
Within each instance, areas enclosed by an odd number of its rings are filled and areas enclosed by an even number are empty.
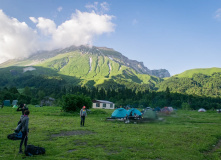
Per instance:
[[[65,54],[70,52],[79,52],[81,55],[93,55],[93,56],[103,56],[109,58],[111,61],[118,63],[120,66],[126,66],[133,70],[135,70],[139,74],[148,74],[160,78],[170,77],[170,73],[166,69],[160,70],[150,70],[144,66],[143,62],[138,62],[136,60],[130,60],[121,53],[106,47],[88,47],[88,46],[71,46],[65,49],[57,49],[53,51],[40,51],[35,55],[27,58],[27,59],[18,59],[18,60],[10,60],[3,64],[0,64],[0,67],[7,67],[7,66],[32,66],[38,65],[44,62],[47,59],[53,58],[58,56],[59,54]],[[90,61],[92,59],[88,59]],[[64,64],[65,65],[65,64]]]

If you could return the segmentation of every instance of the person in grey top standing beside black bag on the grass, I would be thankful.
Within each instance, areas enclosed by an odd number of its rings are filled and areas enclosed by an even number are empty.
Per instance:
[[[27,147],[27,143],[28,143],[28,123],[29,123],[29,115],[30,111],[29,110],[25,110],[24,115],[21,117],[21,123],[22,123],[22,139],[21,139],[21,143],[20,143],[20,148],[19,148],[19,153],[23,153],[22,152],[22,144],[24,143],[25,145],[25,149]]]

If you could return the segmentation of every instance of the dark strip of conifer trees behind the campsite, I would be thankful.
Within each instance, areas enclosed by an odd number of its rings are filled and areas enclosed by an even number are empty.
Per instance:
[[[171,92],[166,87],[164,91],[150,89],[136,90],[121,86],[120,88],[85,87],[85,86],[54,86],[53,88],[33,88],[26,86],[17,89],[16,87],[0,88],[0,100],[15,100],[26,104],[40,104],[45,96],[56,99],[56,105],[62,104],[64,95],[83,95],[90,100],[108,100],[115,103],[117,107],[165,107],[172,106],[182,109],[218,109],[221,108],[221,98],[198,96],[196,94],[183,94]]]

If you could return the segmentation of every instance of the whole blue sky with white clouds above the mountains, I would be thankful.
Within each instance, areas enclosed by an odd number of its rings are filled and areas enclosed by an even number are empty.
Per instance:
[[[171,75],[221,68],[220,0],[0,0],[0,63],[108,47]]]

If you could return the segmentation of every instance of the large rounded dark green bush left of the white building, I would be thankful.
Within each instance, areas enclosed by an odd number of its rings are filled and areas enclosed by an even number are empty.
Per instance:
[[[92,107],[92,102],[90,97],[81,95],[74,95],[74,94],[67,94],[62,96],[61,99],[61,106],[62,109],[66,112],[75,112],[79,111],[83,106],[86,106],[86,108]]]

